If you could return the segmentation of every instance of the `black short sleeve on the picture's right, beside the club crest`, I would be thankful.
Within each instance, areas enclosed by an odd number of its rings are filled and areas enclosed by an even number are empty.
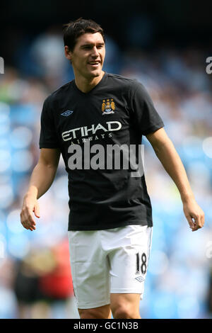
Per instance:
[[[143,84],[134,81],[131,90],[131,108],[136,126],[142,135],[148,135],[164,127],[163,120],[155,110],[153,101]]]

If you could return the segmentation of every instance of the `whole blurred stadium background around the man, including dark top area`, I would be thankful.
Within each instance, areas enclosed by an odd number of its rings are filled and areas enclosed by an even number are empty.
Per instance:
[[[143,318],[212,317],[212,56],[209,2],[4,1],[0,56],[0,318],[76,318],[64,162],[30,232],[20,208],[39,156],[46,96],[73,79],[62,24],[93,18],[107,34],[104,69],[148,89],[182,158],[206,224],[192,233],[175,184],[145,139],[153,245]]]

